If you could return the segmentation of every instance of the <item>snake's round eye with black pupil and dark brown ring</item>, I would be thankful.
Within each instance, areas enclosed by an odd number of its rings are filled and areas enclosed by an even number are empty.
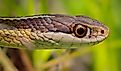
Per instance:
[[[79,37],[79,38],[82,38],[84,36],[86,36],[87,34],[87,27],[84,26],[84,25],[75,25],[74,26],[74,34],[75,36]]]

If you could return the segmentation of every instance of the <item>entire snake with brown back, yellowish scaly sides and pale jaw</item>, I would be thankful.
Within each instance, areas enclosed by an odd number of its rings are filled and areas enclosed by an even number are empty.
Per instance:
[[[0,17],[0,47],[68,49],[95,45],[109,35],[109,28],[83,15],[40,14]]]

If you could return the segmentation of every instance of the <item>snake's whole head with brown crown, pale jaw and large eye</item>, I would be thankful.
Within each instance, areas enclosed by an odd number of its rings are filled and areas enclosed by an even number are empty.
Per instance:
[[[51,20],[56,30],[44,35],[51,38],[61,48],[94,45],[109,35],[109,29],[101,22],[86,16],[53,15]],[[58,47],[59,48],[59,47]]]

